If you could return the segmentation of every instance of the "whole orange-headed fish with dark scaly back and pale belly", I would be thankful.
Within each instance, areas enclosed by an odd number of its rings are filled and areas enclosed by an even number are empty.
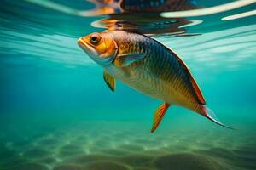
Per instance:
[[[103,68],[108,88],[116,81],[163,104],[154,112],[153,133],[172,105],[182,106],[220,126],[232,128],[213,118],[188,66],[171,49],[152,37],[131,31],[102,31],[80,37],[79,47]]]

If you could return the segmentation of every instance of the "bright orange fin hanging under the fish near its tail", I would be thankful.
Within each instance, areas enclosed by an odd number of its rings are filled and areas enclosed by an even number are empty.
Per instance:
[[[167,104],[166,102],[163,105],[160,105],[159,108],[154,112],[153,117],[153,127],[151,128],[151,133],[154,133],[155,129],[160,125],[160,122],[162,121],[163,117],[165,116],[165,113],[168,109],[170,104]]]

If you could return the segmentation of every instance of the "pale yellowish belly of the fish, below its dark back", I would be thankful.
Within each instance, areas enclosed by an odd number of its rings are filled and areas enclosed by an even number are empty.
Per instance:
[[[155,77],[154,73],[145,71],[143,67],[112,68],[108,69],[108,72],[120,82],[124,82],[140,93],[168,104],[182,105],[190,110],[195,110],[192,102],[172,88],[172,84],[165,82],[160,77]]]

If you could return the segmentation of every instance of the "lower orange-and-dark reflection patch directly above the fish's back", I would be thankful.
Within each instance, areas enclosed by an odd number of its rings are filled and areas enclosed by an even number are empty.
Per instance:
[[[108,30],[133,31],[146,35],[172,33],[178,36],[186,32],[182,26],[190,23],[191,21],[183,18],[163,19],[151,14],[137,15],[136,20],[134,20],[134,14],[122,14],[122,16],[112,14],[110,19],[97,21],[95,26],[102,27],[103,25]],[[188,34],[188,36],[194,36],[194,34]]]

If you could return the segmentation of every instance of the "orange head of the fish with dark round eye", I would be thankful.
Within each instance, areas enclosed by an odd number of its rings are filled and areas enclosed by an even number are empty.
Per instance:
[[[80,37],[78,43],[80,48],[102,67],[111,65],[118,52],[117,43],[108,31]]]

